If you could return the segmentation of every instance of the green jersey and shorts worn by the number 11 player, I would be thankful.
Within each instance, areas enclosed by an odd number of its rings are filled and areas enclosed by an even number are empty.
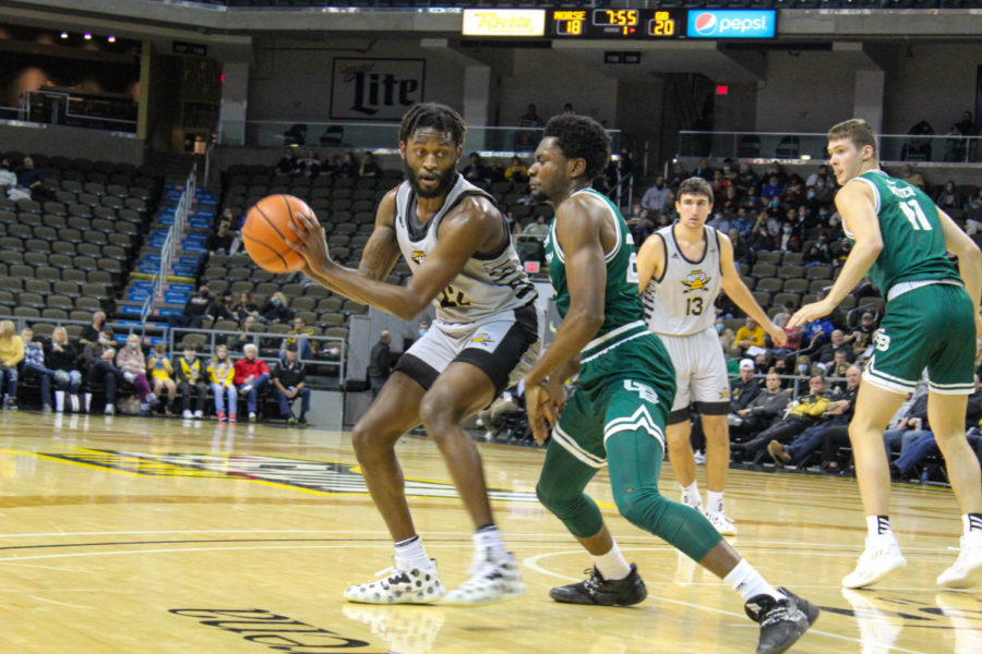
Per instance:
[[[869,275],[887,300],[863,378],[907,393],[926,368],[932,391],[971,393],[972,302],[948,259],[937,207],[917,186],[881,170],[850,183],[869,184],[875,196],[883,251]],[[843,228],[852,240],[849,226]]]

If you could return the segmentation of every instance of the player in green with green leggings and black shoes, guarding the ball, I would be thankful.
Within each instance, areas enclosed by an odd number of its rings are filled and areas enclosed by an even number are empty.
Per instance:
[[[624,218],[590,190],[610,158],[610,137],[595,120],[549,121],[529,168],[532,196],[555,208],[547,240],[549,276],[563,322],[525,377],[536,440],[553,425],[536,492],[594,559],[583,582],[553,589],[558,602],[636,604],[647,594],[584,488],[608,468],[618,510],[679,548],[740,592],[761,623],[757,653],[783,652],[817,618],[818,608],[763,577],[696,509],[658,492],[664,424],[675,392],[671,359],[644,319],[634,243]],[[578,388],[565,402],[563,384]]]

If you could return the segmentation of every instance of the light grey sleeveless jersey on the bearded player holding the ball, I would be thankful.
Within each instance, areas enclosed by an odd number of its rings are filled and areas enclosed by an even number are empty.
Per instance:
[[[457,174],[443,206],[426,225],[421,225],[416,215],[416,193],[408,181],[399,185],[393,225],[399,250],[412,272],[436,247],[436,234],[443,218],[464,198],[472,195],[486,197],[493,204],[490,195]],[[472,255],[450,286],[433,299],[438,320],[481,323],[503,311],[535,303],[535,286],[522,268],[503,216],[501,220],[504,230],[501,246],[494,252]]]

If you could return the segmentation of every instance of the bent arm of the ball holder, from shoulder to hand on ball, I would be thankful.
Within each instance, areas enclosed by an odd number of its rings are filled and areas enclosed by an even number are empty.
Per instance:
[[[331,259],[323,228],[312,216],[301,216],[299,228],[290,225],[296,242],[290,247],[307,259],[312,277],[346,298],[371,304],[403,319],[411,319],[443,291],[464,269],[476,252],[490,250],[504,238],[498,211],[489,211],[481,201],[468,198],[440,226],[440,241],[416,270],[408,286],[402,287],[363,277]]]

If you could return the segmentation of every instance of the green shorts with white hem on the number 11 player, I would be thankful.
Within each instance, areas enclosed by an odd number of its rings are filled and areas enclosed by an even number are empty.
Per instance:
[[[932,283],[910,290],[887,302],[863,380],[908,393],[926,368],[933,392],[970,395],[974,334],[972,302],[963,288]]]

